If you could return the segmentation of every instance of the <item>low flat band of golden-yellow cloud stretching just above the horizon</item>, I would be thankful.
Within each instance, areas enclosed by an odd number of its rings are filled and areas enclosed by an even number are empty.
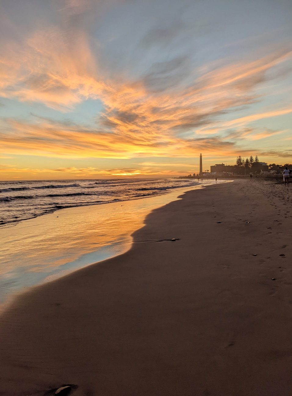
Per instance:
[[[197,152],[237,152],[236,142],[221,137],[182,139],[174,135],[153,135],[103,132],[77,124],[43,121],[38,123],[6,119],[5,132],[0,132],[0,144],[11,154],[35,154],[59,158],[133,158],[189,157]]]

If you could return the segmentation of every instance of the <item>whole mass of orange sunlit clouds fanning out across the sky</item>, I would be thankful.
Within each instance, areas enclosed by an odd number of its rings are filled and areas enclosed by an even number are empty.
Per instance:
[[[70,17],[83,12],[83,2],[62,4],[64,13],[70,10]],[[85,8],[88,4],[84,3]],[[131,79],[111,75],[102,67],[101,50],[96,45],[93,51],[92,46],[89,34],[78,28],[68,34],[49,26],[25,39],[23,48],[13,42],[4,47],[0,60],[3,96],[62,111],[72,110],[88,98],[99,99],[104,110],[97,116],[96,128],[46,119],[2,120],[3,151],[60,158],[192,158],[200,151],[231,156],[237,155],[238,148],[235,140],[220,137],[226,128],[245,127],[292,111],[280,109],[220,120],[224,114],[259,99],[254,88],[268,78],[267,71],[290,59],[288,49],[253,61],[225,66],[222,61],[213,70],[192,68],[188,55],[177,56]],[[210,136],[200,138],[197,134]],[[255,139],[256,135],[251,137]]]

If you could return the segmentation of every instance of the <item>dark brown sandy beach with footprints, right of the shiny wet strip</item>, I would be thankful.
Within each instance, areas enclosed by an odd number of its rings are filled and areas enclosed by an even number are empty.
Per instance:
[[[0,317],[0,395],[290,396],[290,188],[187,192],[127,253],[17,297]]]

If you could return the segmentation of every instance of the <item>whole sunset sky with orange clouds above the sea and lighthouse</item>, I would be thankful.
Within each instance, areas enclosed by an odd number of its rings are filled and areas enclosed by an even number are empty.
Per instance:
[[[292,163],[291,0],[1,4],[1,180]]]

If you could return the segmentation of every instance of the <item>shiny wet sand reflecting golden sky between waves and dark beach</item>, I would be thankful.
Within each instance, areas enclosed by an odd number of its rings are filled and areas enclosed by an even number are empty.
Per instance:
[[[190,188],[140,200],[62,209],[0,229],[0,303],[25,287],[123,253],[149,211],[187,190]]]

